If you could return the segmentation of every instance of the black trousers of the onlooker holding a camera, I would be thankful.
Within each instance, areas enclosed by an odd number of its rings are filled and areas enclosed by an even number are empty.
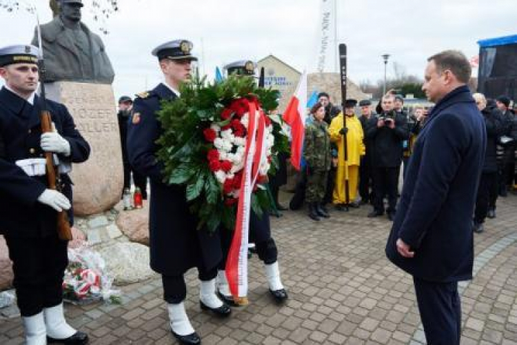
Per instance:
[[[384,196],[387,195],[387,212],[394,213],[397,205],[398,173],[400,167],[372,169],[374,177],[374,210],[384,213]]]

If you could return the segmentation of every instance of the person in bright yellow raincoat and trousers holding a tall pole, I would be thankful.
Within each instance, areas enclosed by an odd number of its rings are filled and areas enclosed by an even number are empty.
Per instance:
[[[357,101],[347,99],[345,101],[346,127],[343,127],[343,112],[332,119],[330,124],[330,140],[338,147],[338,169],[336,173],[336,183],[334,184],[333,204],[337,210],[345,210],[347,207],[357,208],[354,202],[357,195],[359,179],[359,164],[361,156],[365,155],[364,134],[361,121],[354,114],[354,107]],[[348,159],[345,161],[345,151],[343,148],[343,137],[347,138]],[[345,195],[345,180],[348,177],[348,204]]]

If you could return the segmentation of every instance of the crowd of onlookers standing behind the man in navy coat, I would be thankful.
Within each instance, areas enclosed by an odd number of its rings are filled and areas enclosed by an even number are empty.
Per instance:
[[[485,218],[496,217],[497,198],[506,197],[517,183],[517,106],[512,108],[505,95],[486,99],[475,93],[473,97],[488,135],[474,212],[473,230],[481,233]],[[306,165],[290,206],[300,208],[305,195],[308,215],[318,221],[330,217],[329,204],[336,210],[371,204],[368,217],[386,213],[392,221],[400,195],[399,179],[407,173],[418,133],[432,109],[418,105],[405,109],[404,97],[395,90],[389,90],[375,110],[369,99],[347,99],[344,105],[341,112],[327,92],[321,92],[310,109],[305,127]]]

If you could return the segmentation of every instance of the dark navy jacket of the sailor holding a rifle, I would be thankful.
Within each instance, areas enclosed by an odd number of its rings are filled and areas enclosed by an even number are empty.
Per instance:
[[[20,159],[42,158],[39,146],[39,97],[34,106],[6,88],[0,90],[0,233],[17,237],[43,237],[57,232],[57,212],[37,201],[47,188],[47,177],[29,177],[15,164]],[[88,159],[90,146],[75,128],[70,113],[60,103],[47,101],[57,132],[70,143],[70,156],[60,161]],[[72,181],[61,175],[63,194],[72,201]],[[69,211],[73,221],[72,210]]]

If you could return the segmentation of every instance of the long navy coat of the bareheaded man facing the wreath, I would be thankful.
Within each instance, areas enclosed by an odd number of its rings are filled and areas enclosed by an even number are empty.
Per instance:
[[[436,104],[416,139],[386,246],[396,266],[430,282],[472,279],[472,215],[486,141],[467,86]],[[413,258],[398,254],[398,238]]]

